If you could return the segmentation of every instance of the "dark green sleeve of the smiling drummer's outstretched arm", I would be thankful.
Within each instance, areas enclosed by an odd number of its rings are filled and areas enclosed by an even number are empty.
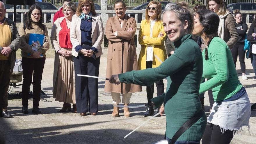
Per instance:
[[[193,46],[193,44],[192,44]],[[167,58],[159,67],[148,68],[145,70],[137,70],[119,74],[120,82],[134,83],[141,86],[149,86],[150,84],[166,78],[186,65],[193,62],[195,56],[195,48],[191,47],[190,42],[181,45],[174,54]]]

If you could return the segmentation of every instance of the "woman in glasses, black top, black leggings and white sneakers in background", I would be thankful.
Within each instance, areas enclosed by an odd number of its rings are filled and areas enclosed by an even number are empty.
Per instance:
[[[242,14],[240,13],[239,10],[235,11],[234,18],[236,20],[236,28],[237,28],[237,33],[239,37],[238,37],[237,43],[231,49],[231,52],[232,52],[235,66],[237,63],[237,55],[239,56],[239,62],[240,62],[240,67],[242,71],[242,79],[248,80],[245,74],[245,62],[244,62],[244,57],[245,57],[244,39],[246,36],[248,26],[246,23],[242,22]]]

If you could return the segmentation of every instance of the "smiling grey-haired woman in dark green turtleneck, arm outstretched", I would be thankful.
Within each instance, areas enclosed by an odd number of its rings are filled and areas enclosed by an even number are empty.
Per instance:
[[[199,144],[206,126],[206,116],[201,110],[199,87],[202,78],[202,54],[198,44],[191,38],[193,15],[184,3],[169,3],[162,15],[163,27],[170,41],[177,48],[159,67],[113,75],[109,81],[119,84],[127,81],[141,86],[168,77],[166,94],[152,99],[156,107],[164,103],[166,113],[166,137],[176,131],[201,111],[200,119],[177,140]]]

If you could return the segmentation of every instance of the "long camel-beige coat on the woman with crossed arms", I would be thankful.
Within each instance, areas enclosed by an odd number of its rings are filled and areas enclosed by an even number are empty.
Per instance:
[[[133,28],[133,30],[127,32],[129,28]],[[136,28],[136,21],[132,17],[125,16],[122,28],[118,16],[108,19],[105,29],[106,37],[109,40],[106,78],[110,78],[113,74],[138,70],[134,42]],[[117,31],[118,36],[113,34],[115,31]],[[141,86],[135,84],[120,83],[115,85],[109,81],[105,83],[105,92],[134,93],[140,91],[142,91]]]

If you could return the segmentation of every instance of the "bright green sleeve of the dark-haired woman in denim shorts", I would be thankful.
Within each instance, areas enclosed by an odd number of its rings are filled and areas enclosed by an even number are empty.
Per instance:
[[[216,75],[208,81],[201,83],[199,93],[204,93],[205,91],[215,88],[228,81],[229,72],[226,44],[218,40],[212,40],[212,43],[208,48],[208,56],[209,59],[211,58]]]

